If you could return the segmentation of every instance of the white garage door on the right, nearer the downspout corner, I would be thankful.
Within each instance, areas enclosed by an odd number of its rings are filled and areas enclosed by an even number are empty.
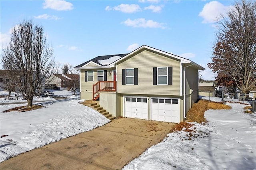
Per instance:
[[[180,123],[180,99],[151,99],[153,121]]]

